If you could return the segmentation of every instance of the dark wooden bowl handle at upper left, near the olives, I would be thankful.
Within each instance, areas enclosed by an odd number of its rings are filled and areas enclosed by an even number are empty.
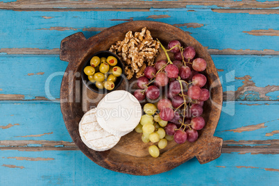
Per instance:
[[[74,62],[81,58],[86,51],[84,49],[84,46],[87,45],[85,42],[87,40],[81,32],[65,37],[60,45],[60,60]]]

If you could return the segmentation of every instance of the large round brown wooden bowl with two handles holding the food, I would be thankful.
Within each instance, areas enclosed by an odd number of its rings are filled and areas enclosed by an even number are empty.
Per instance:
[[[208,62],[204,74],[208,78],[206,86],[210,90],[211,100],[205,101],[203,105],[205,128],[198,131],[199,137],[194,143],[185,142],[185,144],[178,145],[174,141],[169,142],[165,149],[160,150],[158,158],[152,158],[149,155],[148,147],[151,142],[144,144],[140,134],[135,132],[121,137],[119,143],[108,151],[93,151],[81,141],[78,123],[84,112],[96,107],[105,94],[96,94],[86,87],[81,88],[83,83],[81,83],[81,76],[78,76],[78,72],[93,53],[108,50],[118,40],[124,40],[128,31],[133,31],[133,33],[141,31],[145,26],[151,31],[153,38],[158,38],[162,44],[166,45],[171,40],[179,40],[184,47],[194,47],[196,57]],[[156,60],[162,58],[165,58],[163,52]],[[153,175],[174,169],[195,156],[198,162],[204,164],[221,155],[223,140],[213,136],[219,121],[223,98],[219,76],[208,51],[179,28],[161,22],[138,21],[112,26],[88,40],[85,39],[83,33],[76,33],[62,40],[60,59],[69,62],[60,90],[61,111],[65,125],[78,148],[101,167],[126,174]],[[80,83],[78,83],[79,81]],[[126,90],[128,83],[131,81],[123,81],[117,90]]]

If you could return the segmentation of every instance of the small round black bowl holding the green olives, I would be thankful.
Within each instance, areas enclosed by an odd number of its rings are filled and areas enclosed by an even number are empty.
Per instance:
[[[96,87],[95,83],[92,83],[91,81],[88,80],[88,76],[84,73],[83,69],[86,66],[90,66],[90,60],[94,57],[94,56],[98,56],[99,58],[105,57],[108,58],[108,56],[114,56],[115,58],[117,58],[117,65],[118,67],[120,67],[122,69],[122,75],[117,77],[117,81],[115,81],[115,88],[113,90],[106,90],[105,88],[103,89],[99,89]],[[115,67],[116,67],[115,66]],[[93,92],[96,93],[100,93],[100,94],[106,94],[109,92],[112,92],[114,90],[117,90],[117,88],[121,85],[123,78],[124,78],[124,65],[121,62],[121,60],[118,58],[117,55],[115,55],[115,53],[112,53],[110,51],[99,51],[94,53],[88,60],[87,62],[85,62],[85,64],[83,65],[82,71],[81,71],[81,78],[83,79],[83,83],[85,84],[85,86],[92,90]]]

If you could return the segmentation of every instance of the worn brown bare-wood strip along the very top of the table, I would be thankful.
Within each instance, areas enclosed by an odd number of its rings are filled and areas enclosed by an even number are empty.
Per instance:
[[[177,1],[142,1],[142,0],[93,0],[93,1],[54,1],[54,0],[17,0],[0,2],[1,9],[8,10],[42,10],[42,9],[87,9],[87,8],[185,8],[189,6],[214,6],[218,8],[278,8],[278,1],[231,1],[231,0],[177,0]]]

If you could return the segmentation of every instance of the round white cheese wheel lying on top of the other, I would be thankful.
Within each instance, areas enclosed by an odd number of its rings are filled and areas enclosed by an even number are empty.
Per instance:
[[[97,105],[99,125],[119,137],[130,133],[140,123],[141,117],[140,102],[124,90],[110,92]]]

